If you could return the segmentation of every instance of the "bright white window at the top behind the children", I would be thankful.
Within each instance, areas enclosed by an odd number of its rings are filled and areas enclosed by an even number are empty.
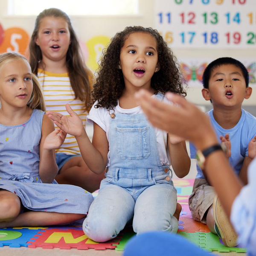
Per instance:
[[[137,15],[139,0],[8,0],[8,15],[38,15],[52,7],[68,15]]]

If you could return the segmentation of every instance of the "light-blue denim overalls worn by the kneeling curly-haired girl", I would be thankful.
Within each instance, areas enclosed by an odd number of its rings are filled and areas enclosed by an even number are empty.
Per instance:
[[[108,241],[133,217],[136,233],[177,232],[177,192],[169,166],[161,165],[155,130],[144,114],[116,113],[110,120],[109,154],[110,166],[84,220],[84,233],[94,241]]]

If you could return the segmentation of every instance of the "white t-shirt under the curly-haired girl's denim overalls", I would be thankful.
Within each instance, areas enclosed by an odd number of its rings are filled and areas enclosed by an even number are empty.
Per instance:
[[[155,97],[153,95],[152,97]],[[170,101],[163,98],[163,102],[170,104]],[[94,103],[93,107],[90,110],[89,115],[87,116],[87,122],[90,124],[93,124],[95,122],[97,125],[99,125],[107,135],[107,139],[109,141],[109,121],[110,121],[110,115],[108,113],[108,110],[106,108],[94,108],[94,106],[97,104],[97,101]],[[123,113],[123,114],[139,114],[143,113],[140,106],[136,108],[131,109],[124,109],[119,106],[119,102],[117,103],[117,106],[114,108],[115,113]],[[111,111],[112,113],[113,111]],[[157,149],[160,157],[160,161],[162,165],[170,165],[170,154],[169,149],[167,146],[167,132],[162,131],[160,129],[155,128],[156,131],[156,137],[157,137]],[[109,166],[109,152],[108,152],[108,164]]]

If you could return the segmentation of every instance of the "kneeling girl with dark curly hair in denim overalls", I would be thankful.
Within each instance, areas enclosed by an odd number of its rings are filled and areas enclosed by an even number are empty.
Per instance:
[[[83,223],[94,241],[113,239],[132,218],[136,233],[178,229],[181,206],[169,166],[181,178],[189,172],[190,159],[181,138],[150,125],[134,97],[142,88],[163,102],[168,102],[166,91],[186,96],[177,60],[162,36],[151,28],[126,27],[105,50],[93,86],[87,117],[94,126],[92,143],[69,105],[70,117],[47,112],[76,137],[93,172],[102,173],[107,166]]]

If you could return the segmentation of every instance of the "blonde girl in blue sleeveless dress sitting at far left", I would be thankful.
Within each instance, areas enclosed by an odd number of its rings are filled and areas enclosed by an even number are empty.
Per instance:
[[[0,55],[0,228],[68,224],[86,216],[92,195],[55,180],[54,131],[38,79],[17,53]]]

